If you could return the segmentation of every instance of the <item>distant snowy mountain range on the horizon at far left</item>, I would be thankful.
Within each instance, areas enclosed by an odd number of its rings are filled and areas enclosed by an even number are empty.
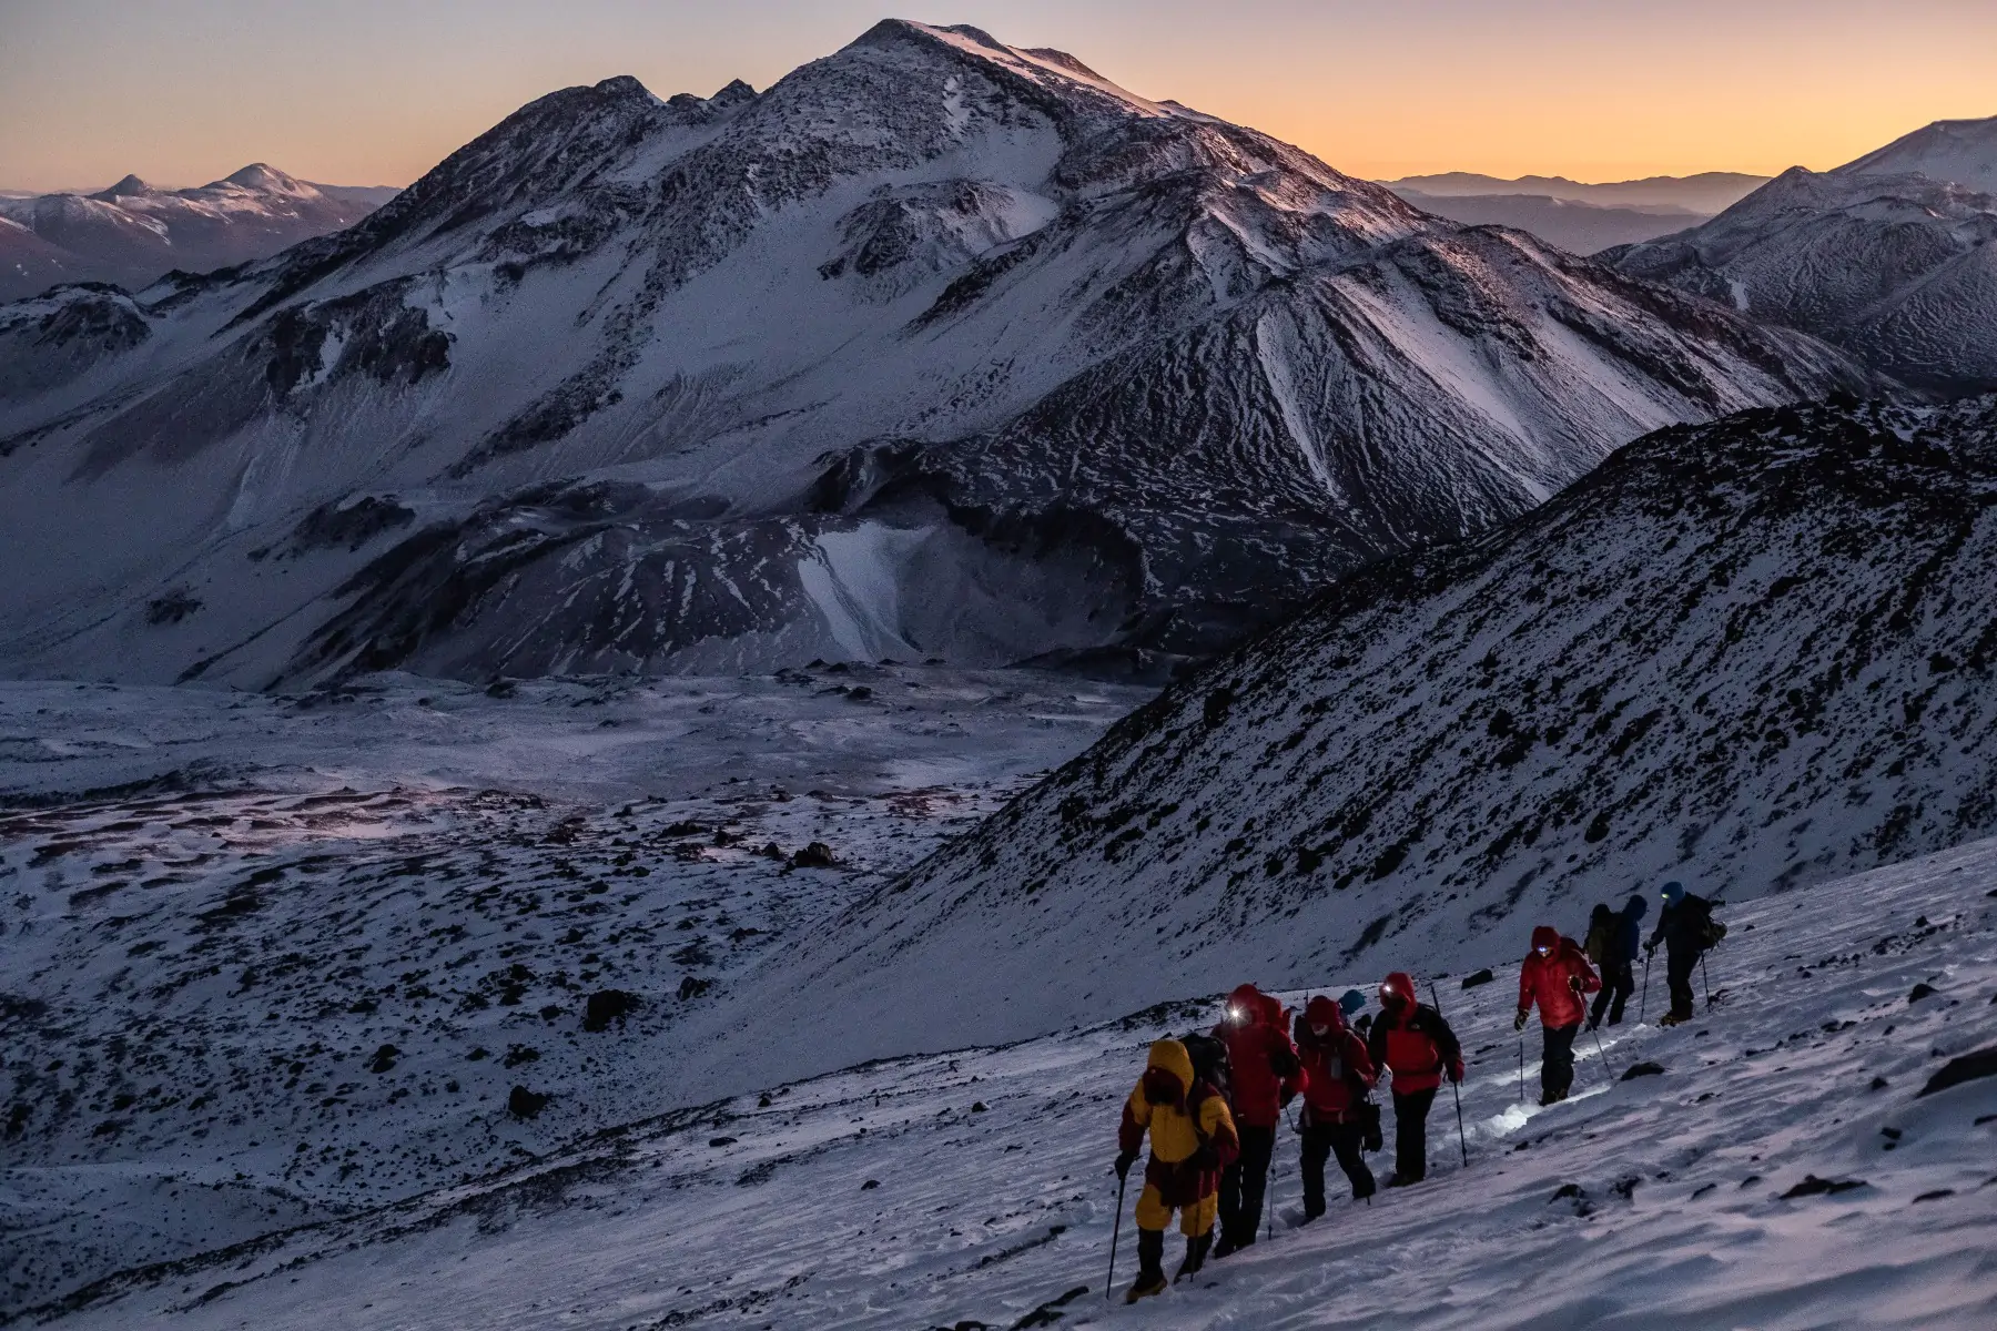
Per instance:
[[[371,186],[316,186],[262,162],[194,190],[126,176],[98,194],[0,194],[0,301],[58,281],[130,289],[172,269],[264,259],[337,231],[395,198]]]

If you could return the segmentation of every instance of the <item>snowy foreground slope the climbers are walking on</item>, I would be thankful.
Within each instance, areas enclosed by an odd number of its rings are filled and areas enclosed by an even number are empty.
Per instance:
[[[1470,1167],[1442,1149],[1454,1115],[1438,1104],[1428,1183],[1366,1207],[1334,1177],[1330,1213],[1288,1229],[1300,1197],[1282,1131],[1274,1239],[1134,1309],[1102,1299],[1116,1111],[1146,1042],[1208,1026],[1210,1000],[603,1131],[467,1187],[110,1281],[64,1325],[1997,1325],[1997,1078],[1919,1096],[1947,1060],[1997,1044],[1997,840],[1723,918],[1713,1008],[1604,1032],[1618,1072],[1664,1072],[1610,1084],[1588,1042],[1574,1100],[1548,1109],[1518,1100],[1510,944],[1524,952],[1524,936],[1492,936],[1494,984],[1440,986],[1470,1056]],[[1374,982],[1340,972],[1320,988]],[[1909,1002],[1921,984],[1933,994]]]

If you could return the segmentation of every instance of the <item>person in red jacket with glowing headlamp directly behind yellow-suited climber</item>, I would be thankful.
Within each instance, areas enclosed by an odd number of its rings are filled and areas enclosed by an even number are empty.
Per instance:
[[[1228,1106],[1242,1147],[1240,1159],[1220,1175],[1220,1245],[1214,1257],[1226,1257],[1254,1243],[1262,1227],[1276,1123],[1302,1086],[1302,1066],[1290,1044],[1282,1002],[1252,984],[1228,996],[1214,1040],[1228,1046]]]

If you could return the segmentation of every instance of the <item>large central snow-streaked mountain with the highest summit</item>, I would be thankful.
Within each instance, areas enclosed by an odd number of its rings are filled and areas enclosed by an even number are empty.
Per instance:
[[[16,674],[1158,670],[1648,429],[1863,379],[909,22],[761,94],[555,92],[355,227],[130,299],[118,349],[0,315]]]

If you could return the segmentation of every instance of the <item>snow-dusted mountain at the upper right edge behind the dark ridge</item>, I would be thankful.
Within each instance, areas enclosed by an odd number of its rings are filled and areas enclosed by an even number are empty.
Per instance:
[[[1835,172],[1791,168],[1703,225],[1600,255],[1809,331],[1905,383],[1997,387],[1997,118]]]

